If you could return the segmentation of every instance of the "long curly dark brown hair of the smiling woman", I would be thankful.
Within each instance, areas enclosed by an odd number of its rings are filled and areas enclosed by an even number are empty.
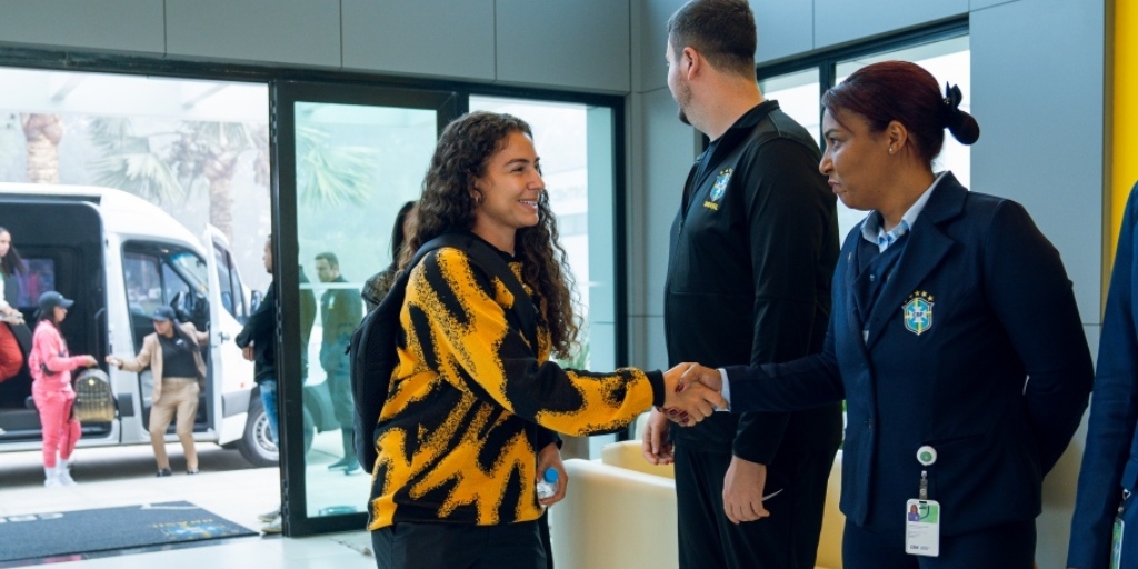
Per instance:
[[[484,110],[463,115],[446,126],[423,178],[418,226],[404,244],[399,269],[405,269],[427,241],[475,226],[475,181],[486,174],[486,166],[505,148],[513,132],[534,137],[529,124],[521,118]],[[553,355],[567,358],[579,332],[574,315],[574,279],[558,239],[547,192],[541,192],[537,209],[537,225],[518,230],[514,255],[521,261],[522,281],[534,290],[539,324],[550,330]]]

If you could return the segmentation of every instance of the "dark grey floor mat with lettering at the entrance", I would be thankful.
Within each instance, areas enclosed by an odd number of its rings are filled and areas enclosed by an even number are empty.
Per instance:
[[[0,518],[0,561],[257,535],[189,502]]]

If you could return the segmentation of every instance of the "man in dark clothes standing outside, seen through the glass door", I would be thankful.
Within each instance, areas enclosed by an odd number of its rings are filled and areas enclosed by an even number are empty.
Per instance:
[[[347,280],[340,274],[340,262],[335,253],[316,255],[316,277],[320,282],[340,284]],[[329,464],[328,470],[343,470],[345,475],[363,472],[352,439],[355,407],[352,404],[352,378],[348,344],[352,332],[363,319],[360,291],[348,287],[329,288],[320,297],[320,324],[323,328],[320,344],[320,366],[328,376],[328,390],[332,396],[332,411],[340,423],[344,457]]]

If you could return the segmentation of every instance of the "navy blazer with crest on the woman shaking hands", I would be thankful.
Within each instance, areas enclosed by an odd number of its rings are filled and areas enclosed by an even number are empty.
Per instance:
[[[858,526],[902,531],[922,470],[942,535],[1031,520],[1094,377],[1058,251],[1021,205],[968,192],[951,174],[906,239],[863,315],[851,294],[866,278],[855,228],[834,272],[823,352],[727,368],[732,411],[844,397],[841,510]],[[922,445],[937,450],[934,464],[917,462]]]

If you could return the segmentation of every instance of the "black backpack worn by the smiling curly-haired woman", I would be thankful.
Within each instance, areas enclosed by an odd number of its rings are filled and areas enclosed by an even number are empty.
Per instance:
[[[535,349],[537,347],[537,313],[534,303],[496,249],[472,233],[444,233],[423,244],[406,269],[399,273],[379,306],[364,316],[360,327],[352,333],[352,343],[348,345],[348,357],[352,362],[352,397],[355,402],[353,440],[360,464],[369,472],[374,470],[378,459],[376,428],[379,426],[379,414],[387,401],[391,372],[399,361],[396,351],[399,346],[406,345],[403,327],[399,325],[399,312],[403,310],[407,280],[411,270],[423,256],[443,247],[465,251],[475,265],[487,274],[497,277],[510,289],[517,300],[506,318],[517,319],[516,324],[526,335],[530,346]]]

